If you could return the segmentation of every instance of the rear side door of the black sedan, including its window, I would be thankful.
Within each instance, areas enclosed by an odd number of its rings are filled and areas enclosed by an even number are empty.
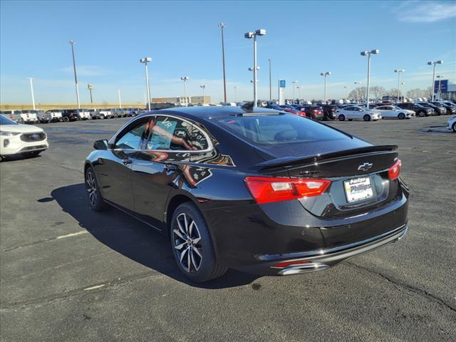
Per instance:
[[[175,115],[153,115],[147,127],[147,140],[132,164],[135,212],[160,229],[167,197],[173,187],[189,180],[192,153],[201,150],[192,136],[195,126]]]

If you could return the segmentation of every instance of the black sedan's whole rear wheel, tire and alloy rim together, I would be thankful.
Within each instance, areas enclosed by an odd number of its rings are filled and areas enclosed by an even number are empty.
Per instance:
[[[226,267],[217,263],[209,228],[192,202],[182,203],[175,209],[170,238],[177,267],[190,281],[202,283],[219,278],[227,271]]]

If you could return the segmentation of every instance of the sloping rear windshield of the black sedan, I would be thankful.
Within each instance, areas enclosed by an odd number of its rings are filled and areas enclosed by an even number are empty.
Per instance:
[[[229,133],[253,145],[350,139],[338,130],[294,114],[224,116],[218,122]]]

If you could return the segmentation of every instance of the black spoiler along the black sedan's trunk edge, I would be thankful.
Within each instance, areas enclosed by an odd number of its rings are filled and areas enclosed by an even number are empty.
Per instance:
[[[271,170],[281,167],[293,167],[296,165],[309,164],[318,162],[321,160],[328,160],[338,157],[346,157],[348,155],[361,155],[364,153],[371,152],[393,152],[398,149],[397,145],[373,145],[366,147],[353,148],[351,150],[343,150],[337,152],[329,152],[324,155],[311,155],[309,157],[280,157],[276,159],[266,160],[259,162],[256,167],[259,167],[259,171]]]

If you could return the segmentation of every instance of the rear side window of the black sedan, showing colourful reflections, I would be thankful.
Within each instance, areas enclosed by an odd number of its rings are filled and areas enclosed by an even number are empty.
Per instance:
[[[147,150],[206,150],[207,136],[186,120],[157,115],[150,120]]]

